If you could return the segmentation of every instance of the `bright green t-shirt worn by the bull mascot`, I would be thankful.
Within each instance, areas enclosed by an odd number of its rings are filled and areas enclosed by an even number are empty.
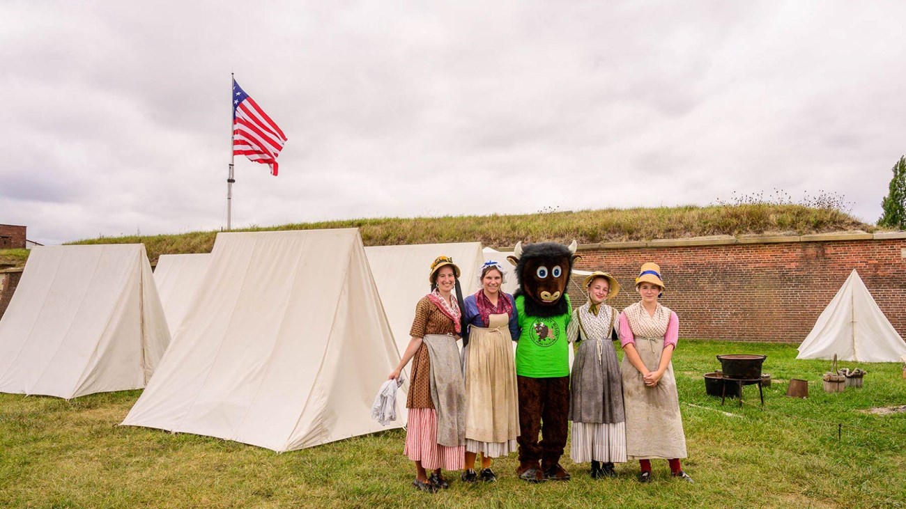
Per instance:
[[[566,309],[572,309],[564,295]],[[566,326],[572,312],[541,318],[525,316],[525,295],[516,296],[519,316],[519,342],[516,345],[516,375],[533,379],[569,376],[569,341]]]

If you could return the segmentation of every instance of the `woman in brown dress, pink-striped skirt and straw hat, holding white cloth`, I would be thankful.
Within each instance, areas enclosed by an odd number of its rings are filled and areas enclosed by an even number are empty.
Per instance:
[[[462,331],[454,293],[458,277],[459,267],[448,256],[431,264],[431,293],[416,305],[409,347],[388,377],[399,378],[412,360],[403,454],[415,462],[412,485],[429,493],[448,487],[441,468],[461,469],[466,453],[466,393],[456,345]],[[433,470],[430,476],[426,469]]]

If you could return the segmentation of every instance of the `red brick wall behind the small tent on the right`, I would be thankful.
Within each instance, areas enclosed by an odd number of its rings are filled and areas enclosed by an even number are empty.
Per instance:
[[[679,315],[686,338],[799,342],[853,269],[882,312],[906,337],[906,239],[580,248],[575,268],[617,278],[618,309],[638,298],[643,262],[660,264],[661,303]],[[573,278],[578,280],[579,278]],[[573,287],[575,305],[585,297]]]

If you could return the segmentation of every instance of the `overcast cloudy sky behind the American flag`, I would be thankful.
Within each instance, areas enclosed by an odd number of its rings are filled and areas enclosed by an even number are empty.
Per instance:
[[[906,153],[906,4],[0,0],[0,223],[226,224],[230,72],[289,141],[234,225],[844,195]]]

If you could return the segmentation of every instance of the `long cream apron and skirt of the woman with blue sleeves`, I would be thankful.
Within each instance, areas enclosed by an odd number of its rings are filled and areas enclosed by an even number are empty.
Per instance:
[[[487,457],[516,452],[519,400],[512,343],[506,321],[493,329],[472,327],[469,331],[465,360],[468,452]]]

